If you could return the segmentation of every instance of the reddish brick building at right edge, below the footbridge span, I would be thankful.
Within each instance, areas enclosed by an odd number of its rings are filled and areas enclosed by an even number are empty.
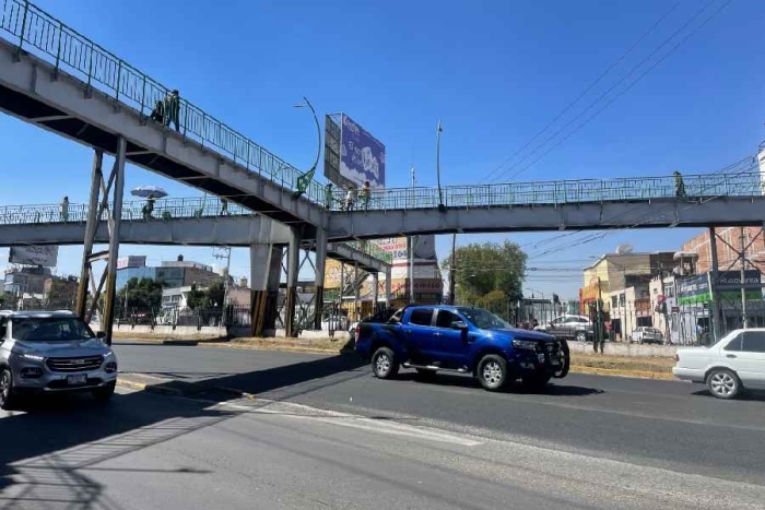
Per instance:
[[[762,227],[719,227],[716,228],[717,236],[723,239],[733,248],[740,249],[741,234],[744,235],[744,245],[749,245],[752,239],[752,246],[746,250],[746,258],[755,263],[765,264],[765,236],[763,236]],[[741,263],[737,263],[729,268],[738,257],[737,252],[727,246],[722,240],[717,239],[717,260],[720,271],[731,269],[740,270]],[[682,249],[685,252],[698,254],[696,266],[697,273],[706,273],[711,270],[711,246],[709,244],[709,230],[706,230],[696,237],[687,240]],[[751,268],[751,265],[750,265]]]

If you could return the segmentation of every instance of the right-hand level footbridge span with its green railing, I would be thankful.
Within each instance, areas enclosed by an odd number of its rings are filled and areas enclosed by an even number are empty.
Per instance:
[[[765,187],[754,158],[723,173],[373,191],[343,211],[334,197],[328,237],[761,225]]]

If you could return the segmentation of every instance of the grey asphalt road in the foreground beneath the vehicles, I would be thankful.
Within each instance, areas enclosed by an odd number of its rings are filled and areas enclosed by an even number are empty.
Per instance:
[[[765,508],[760,396],[589,376],[487,393],[352,357],[117,349],[123,370],[211,389],[0,413],[0,509]]]

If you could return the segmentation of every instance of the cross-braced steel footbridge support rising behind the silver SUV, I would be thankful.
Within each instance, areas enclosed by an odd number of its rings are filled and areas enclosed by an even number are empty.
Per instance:
[[[82,254],[82,271],[78,287],[76,313],[83,320],[90,321],[98,306],[101,293],[104,290],[104,309],[101,313],[101,330],[106,333],[105,341],[111,345],[111,328],[115,318],[115,298],[117,294],[117,258],[119,257],[119,229],[122,218],[122,194],[125,192],[125,152],[127,142],[123,137],[117,138],[115,163],[109,178],[105,181],[102,171],[104,153],[96,151],[93,157],[93,175],[91,178],[90,209]],[[111,207],[109,210],[109,195]],[[106,252],[93,253],[93,245],[98,221],[104,211],[108,212],[107,225],[109,233],[109,249]],[[106,269],[102,273],[101,282],[95,285],[93,278],[93,262],[106,260]],[[90,307],[87,306],[89,284],[93,293]]]

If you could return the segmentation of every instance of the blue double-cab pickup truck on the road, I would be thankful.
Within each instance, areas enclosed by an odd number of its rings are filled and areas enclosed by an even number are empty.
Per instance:
[[[487,390],[521,379],[530,389],[568,372],[565,340],[519,330],[482,308],[408,306],[387,322],[362,322],[356,352],[372,360],[376,377],[414,368],[423,377],[440,370],[472,373]]]

